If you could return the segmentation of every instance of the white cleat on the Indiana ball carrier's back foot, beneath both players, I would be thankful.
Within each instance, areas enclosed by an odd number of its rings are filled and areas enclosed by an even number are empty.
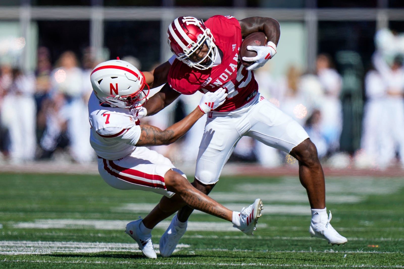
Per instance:
[[[170,223],[170,226],[166,229],[164,234],[160,238],[160,254],[163,257],[169,257],[173,254],[175,247],[177,246],[181,237],[185,234],[187,230],[187,223],[185,222],[185,227],[179,227],[174,225],[174,219]]]

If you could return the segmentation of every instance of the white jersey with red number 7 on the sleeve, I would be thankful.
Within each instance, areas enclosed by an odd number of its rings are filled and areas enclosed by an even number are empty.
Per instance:
[[[90,144],[99,157],[118,160],[136,150],[141,134],[140,121],[131,110],[102,106],[93,92],[88,100],[88,119]]]

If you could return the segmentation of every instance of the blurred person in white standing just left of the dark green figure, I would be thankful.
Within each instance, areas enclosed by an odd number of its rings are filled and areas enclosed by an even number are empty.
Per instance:
[[[328,154],[339,150],[342,131],[341,75],[335,70],[328,54],[319,54],[316,61],[317,76],[324,90],[321,99],[320,129],[327,142]]]

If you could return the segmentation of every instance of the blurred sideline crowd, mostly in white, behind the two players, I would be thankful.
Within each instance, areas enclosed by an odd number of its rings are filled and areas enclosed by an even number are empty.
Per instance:
[[[93,2],[100,4],[99,1]],[[172,1],[163,2],[164,5],[173,5]],[[246,1],[233,1],[233,5],[237,2],[246,4]],[[313,3],[317,5],[316,1],[292,2],[301,2],[302,8],[307,8],[307,5],[318,8],[313,6]],[[32,3],[22,1],[21,6],[23,4],[29,6]],[[0,12],[0,19],[1,16]],[[404,13],[402,16],[404,21]],[[280,21],[281,33],[284,24]],[[281,34],[278,55],[255,71],[261,94],[306,129],[326,165],[382,170],[400,166],[404,169],[404,28],[391,29],[388,23],[384,26],[375,27],[370,42],[358,42],[357,49],[349,50],[341,45],[341,49],[327,50],[327,46],[318,45],[311,65],[310,61],[307,64],[286,61],[280,71],[278,63],[289,53],[286,49],[281,50]],[[157,27],[159,33],[153,34],[151,40],[156,35],[158,38],[163,36],[161,42],[167,46],[164,34],[161,34],[164,27]],[[116,29],[133,30],[130,27]],[[147,35],[136,40],[136,44],[126,38],[117,40],[119,44],[129,43],[121,44],[123,48],[119,50],[118,46],[108,45],[110,41],[105,38],[108,30],[105,29],[104,45],[97,50],[89,44],[69,48],[63,42],[55,49],[53,45],[60,41],[46,42],[42,33],[34,46],[35,63],[29,68],[21,60],[23,53],[11,53],[16,46],[24,47],[27,39],[16,38],[13,48],[7,49],[8,45],[4,45],[6,35],[1,31],[0,20],[0,164],[3,165],[48,160],[94,162],[97,156],[89,144],[87,112],[87,101],[92,92],[91,70],[103,60],[120,56],[138,69],[148,71],[170,56],[160,51],[160,56],[150,54],[147,57],[141,48],[125,49],[125,46],[147,43],[150,41]],[[284,45],[294,50],[293,44]],[[155,54],[158,48],[155,48]],[[370,51],[367,58],[361,53],[362,48]],[[151,94],[158,90],[151,90]],[[199,93],[181,96],[142,122],[164,129],[190,113],[200,97]],[[204,119],[200,119],[179,142],[154,150],[177,165],[193,164],[203,128]],[[290,158],[288,154],[243,137],[229,161],[278,167],[290,163]]]

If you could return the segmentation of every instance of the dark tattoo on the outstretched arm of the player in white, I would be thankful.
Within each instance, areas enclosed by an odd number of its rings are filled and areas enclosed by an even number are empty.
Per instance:
[[[141,125],[141,135],[137,146],[165,145],[172,142],[175,133],[172,130],[162,131],[160,128],[151,125]]]

